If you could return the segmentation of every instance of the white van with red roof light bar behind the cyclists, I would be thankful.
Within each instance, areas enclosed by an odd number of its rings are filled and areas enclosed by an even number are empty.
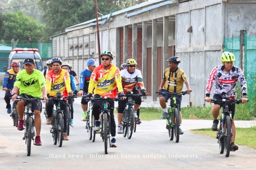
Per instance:
[[[35,69],[38,69],[39,71],[42,71],[42,59],[40,54],[37,52],[37,48],[14,48],[12,52],[9,55],[9,59],[7,62],[7,66],[5,66],[4,72],[8,70],[8,68],[11,68],[11,63],[13,61],[18,61],[20,62],[20,69],[22,69],[23,61],[26,58],[32,58],[35,61]]]

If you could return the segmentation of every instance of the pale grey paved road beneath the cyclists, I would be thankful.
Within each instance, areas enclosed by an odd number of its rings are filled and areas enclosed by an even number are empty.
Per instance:
[[[42,115],[42,146],[32,146],[31,156],[26,156],[23,131],[12,126],[12,119],[6,113],[0,91],[0,169],[255,169],[256,150],[239,146],[239,150],[231,152],[226,158],[218,152],[217,139],[190,133],[189,129],[210,127],[212,121],[183,120],[185,133],[180,142],[169,140],[164,120],[145,122],[138,126],[131,139],[116,135],[116,148],[110,148],[104,154],[104,144],[99,135],[96,142],[91,142],[85,131],[85,122],[80,121],[81,108],[79,100],[74,104],[75,127],[70,127],[70,140],[64,141],[62,147],[53,145],[49,133],[50,126],[44,123]],[[240,124],[237,122],[237,125]],[[256,122],[244,121],[241,125],[250,127]],[[240,126],[240,125],[239,125]],[[214,133],[214,132],[213,132]]]

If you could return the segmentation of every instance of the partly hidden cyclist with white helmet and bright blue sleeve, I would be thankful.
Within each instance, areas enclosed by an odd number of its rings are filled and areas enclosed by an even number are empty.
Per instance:
[[[67,62],[64,62],[64,63],[62,63],[61,68],[66,70],[67,72],[69,72],[70,64],[67,63]],[[70,82],[71,82],[70,83],[71,89],[74,91],[74,94],[77,95],[78,91],[76,89],[75,79],[72,75],[70,75]],[[75,126],[74,121],[73,121],[73,114],[74,114],[73,102],[74,102],[74,99],[67,99],[67,100],[68,100],[68,104],[70,104],[70,108],[71,108],[70,125],[71,125],[71,127],[74,127]]]

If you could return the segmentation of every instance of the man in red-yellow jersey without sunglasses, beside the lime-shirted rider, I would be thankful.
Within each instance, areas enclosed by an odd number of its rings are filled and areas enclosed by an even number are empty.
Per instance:
[[[55,57],[52,59],[52,70],[46,74],[46,90],[47,96],[56,97],[56,93],[60,92],[63,97],[72,96],[73,92],[70,86],[70,75],[64,69],[61,69],[62,61]],[[47,103],[47,125],[52,124],[52,109],[55,100],[49,100]],[[61,110],[64,114],[63,140],[69,140],[67,136],[67,99],[61,101]]]

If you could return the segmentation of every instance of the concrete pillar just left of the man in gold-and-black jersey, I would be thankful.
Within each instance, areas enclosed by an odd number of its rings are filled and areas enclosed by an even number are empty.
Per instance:
[[[152,87],[152,97],[153,101],[157,101],[157,19],[152,20],[152,77],[151,77],[151,87]]]

